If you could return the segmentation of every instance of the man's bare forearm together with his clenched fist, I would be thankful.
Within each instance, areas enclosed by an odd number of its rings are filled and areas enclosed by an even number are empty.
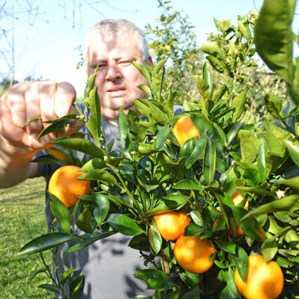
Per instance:
[[[71,84],[49,80],[13,85],[0,97],[0,188],[35,176],[37,164],[31,162],[34,154],[57,137],[69,136],[82,127],[76,120],[63,131],[36,139],[47,126],[44,121],[76,113],[72,107],[75,99]],[[41,121],[28,122],[38,118]]]

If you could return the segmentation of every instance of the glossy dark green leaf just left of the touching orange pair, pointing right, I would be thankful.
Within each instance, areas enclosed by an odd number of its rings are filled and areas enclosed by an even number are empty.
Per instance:
[[[138,236],[144,233],[143,229],[139,227],[136,222],[127,215],[110,214],[107,217],[107,222],[114,230],[126,236]]]

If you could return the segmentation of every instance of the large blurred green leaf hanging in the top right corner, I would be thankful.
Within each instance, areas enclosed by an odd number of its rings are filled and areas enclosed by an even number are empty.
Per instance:
[[[288,0],[265,0],[255,25],[257,52],[290,85],[294,70],[291,14]]]

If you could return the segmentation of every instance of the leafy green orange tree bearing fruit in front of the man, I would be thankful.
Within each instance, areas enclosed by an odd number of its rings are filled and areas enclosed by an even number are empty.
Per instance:
[[[293,100],[282,110],[284,98],[265,95],[273,119],[263,130],[246,117],[247,91],[239,90],[234,76],[213,89],[205,65],[202,77],[193,76],[201,102],[187,103],[183,114],[175,116],[172,91],[163,89],[166,59],[152,68],[134,63],[149,82],[139,86],[149,99],[134,102],[144,118],[120,111],[121,147],[111,151],[113,145],[105,143],[101,131],[100,99],[93,87],[96,74],[92,75],[85,91],[91,117],[77,118],[86,123],[95,143],[78,135],[53,142],[90,155],[79,179],[91,180],[92,192],[78,196],[70,210],[50,194],[51,211],[60,225],[27,243],[19,254],[48,249],[55,253],[67,242],[68,255],[122,233],[132,236],[129,246],[152,263],[151,269],[134,275],[154,290],[153,298],[298,297],[299,62],[292,56],[294,9],[295,1],[266,0],[255,26],[258,53],[286,82],[286,97]],[[240,38],[246,42],[246,36]],[[215,64],[214,58],[209,61]],[[184,116],[197,130],[180,144],[180,137],[189,134],[188,126],[174,127]],[[63,128],[72,118],[53,121],[42,134]],[[37,161],[57,159],[48,155]],[[172,217],[162,217],[165,213]],[[185,220],[177,221],[180,215]],[[183,227],[183,235],[177,241],[172,234],[164,239],[164,230],[174,226],[176,231]],[[76,228],[85,234],[78,235]],[[68,283],[76,298],[83,277],[74,277],[74,270],[58,279],[49,269],[38,271],[53,280],[53,285],[41,287],[64,296]],[[179,280],[174,282],[170,273]],[[269,285],[276,285],[274,293]]]

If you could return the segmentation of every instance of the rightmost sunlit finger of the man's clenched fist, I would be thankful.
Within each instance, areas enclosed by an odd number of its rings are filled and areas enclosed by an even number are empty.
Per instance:
[[[72,104],[76,100],[76,90],[68,82],[61,82],[57,86],[55,97],[55,113],[58,117],[69,114]]]

